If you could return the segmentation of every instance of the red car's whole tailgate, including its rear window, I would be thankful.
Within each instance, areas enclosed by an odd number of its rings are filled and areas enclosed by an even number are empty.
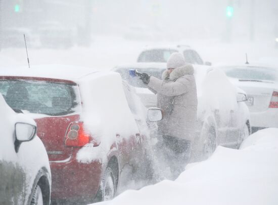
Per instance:
[[[30,115],[37,123],[37,135],[48,151],[50,161],[66,161],[72,147],[65,146],[69,124],[79,120],[79,88],[73,81],[5,76],[0,92],[16,112]]]

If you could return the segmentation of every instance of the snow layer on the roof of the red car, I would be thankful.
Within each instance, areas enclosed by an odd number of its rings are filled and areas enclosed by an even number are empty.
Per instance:
[[[0,69],[1,76],[23,76],[23,77],[42,77],[57,78],[64,80],[76,80],[100,70],[89,67],[70,66],[70,65],[37,65],[31,68],[16,67]]]

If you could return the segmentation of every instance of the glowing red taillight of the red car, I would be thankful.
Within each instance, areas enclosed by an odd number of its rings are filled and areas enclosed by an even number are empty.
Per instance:
[[[95,140],[83,127],[83,122],[70,123],[65,136],[66,146],[84,146],[85,144],[92,142],[94,146],[99,146],[100,142]]]

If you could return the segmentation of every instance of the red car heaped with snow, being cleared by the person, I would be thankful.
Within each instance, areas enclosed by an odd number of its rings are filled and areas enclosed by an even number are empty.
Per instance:
[[[43,65],[5,69],[0,79],[7,103],[37,123],[50,160],[53,201],[111,199],[123,185],[124,168],[136,171],[148,162],[146,119],[160,120],[162,113],[138,108],[118,73]]]

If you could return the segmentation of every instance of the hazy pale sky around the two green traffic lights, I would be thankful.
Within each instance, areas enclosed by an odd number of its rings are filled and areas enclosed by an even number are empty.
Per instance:
[[[92,34],[153,35],[169,38],[273,38],[278,30],[277,0],[0,0],[0,24],[34,27],[61,21],[60,26]],[[90,6],[89,6],[90,5]],[[233,17],[226,17],[232,6]],[[22,10],[22,11],[21,11]],[[91,18],[91,19],[89,19]],[[28,23],[26,23],[28,22]],[[58,24],[59,25],[59,24]],[[17,25],[18,26],[18,25]],[[278,31],[277,31],[278,32]]]

